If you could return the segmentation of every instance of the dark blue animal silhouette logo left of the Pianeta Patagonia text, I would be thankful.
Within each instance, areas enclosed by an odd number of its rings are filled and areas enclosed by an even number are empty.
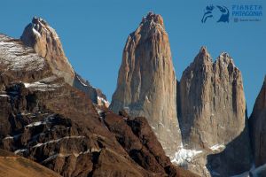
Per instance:
[[[206,23],[207,19],[216,19],[216,22],[227,22],[229,23],[230,12],[224,5],[213,4],[207,5],[201,19],[201,23]],[[218,17],[218,19],[217,19]]]

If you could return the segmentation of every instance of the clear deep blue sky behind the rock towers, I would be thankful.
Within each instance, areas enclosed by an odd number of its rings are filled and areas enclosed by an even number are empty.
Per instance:
[[[147,12],[162,15],[168,31],[176,77],[207,46],[212,58],[228,52],[243,75],[248,113],[266,73],[266,1],[157,0],[5,0],[0,6],[0,32],[19,38],[33,16],[55,28],[74,70],[102,89],[111,101],[126,39]],[[201,23],[207,5],[261,4],[261,21]],[[231,16],[230,16],[231,18]],[[250,19],[250,18],[249,18]],[[252,18],[251,18],[252,19]]]

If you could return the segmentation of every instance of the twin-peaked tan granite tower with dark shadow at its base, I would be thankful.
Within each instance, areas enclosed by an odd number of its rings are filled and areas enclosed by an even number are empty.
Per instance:
[[[202,47],[182,75],[179,96],[184,148],[203,150],[204,158],[223,151],[219,158],[212,156],[215,160],[207,158],[211,175],[228,176],[248,170],[251,150],[243,81],[231,57],[222,53],[213,62]],[[200,160],[198,163],[205,165]]]

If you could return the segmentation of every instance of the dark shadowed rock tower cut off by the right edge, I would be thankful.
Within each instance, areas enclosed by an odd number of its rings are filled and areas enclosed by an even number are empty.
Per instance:
[[[260,166],[266,163],[266,76],[262,89],[256,98],[249,122],[254,150],[254,163],[256,166]]]

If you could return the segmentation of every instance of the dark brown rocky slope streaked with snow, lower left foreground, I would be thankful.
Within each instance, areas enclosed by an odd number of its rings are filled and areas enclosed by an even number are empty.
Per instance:
[[[92,104],[20,40],[0,43],[0,149],[67,177],[197,176],[171,164],[144,118]]]

